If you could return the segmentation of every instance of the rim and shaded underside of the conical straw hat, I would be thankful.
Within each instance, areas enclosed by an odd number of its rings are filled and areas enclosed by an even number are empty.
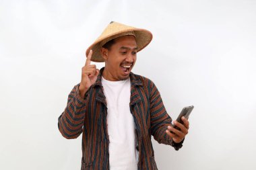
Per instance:
[[[86,50],[86,56],[88,56],[90,50],[92,50],[92,58],[91,60],[94,62],[104,62],[104,58],[101,56],[100,49],[102,48],[102,42],[108,42],[119,36],[119,34],[124,34],[125,32],[134,32],[135,39],[137,43],[137,52],[148,46],[152,41],[153,35],[148,30],[143,30],[139,28],[133,28],[131,30],[125,30],[122,32],[116,32],[115,34],[110,34],[104,38],[100,38],[96,40],[91,46]]]

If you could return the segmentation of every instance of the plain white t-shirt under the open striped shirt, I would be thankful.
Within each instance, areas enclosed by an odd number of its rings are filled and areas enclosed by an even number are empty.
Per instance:
[[[136,170],[138,152],[135,148],[135,123],[130,112],[131,81],[107,81],[102,77],[108,108],[110,170]]]

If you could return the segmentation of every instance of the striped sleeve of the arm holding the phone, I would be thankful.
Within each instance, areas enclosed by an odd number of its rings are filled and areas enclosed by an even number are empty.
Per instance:
[[[158,143],[168,144],[178,151],[183,146],[184,139],[175,143],[166,134],[167,127],[172,125],[172,119],[167,114],[160,93],[152,81],[150,81],[150,89],[151,134]]]

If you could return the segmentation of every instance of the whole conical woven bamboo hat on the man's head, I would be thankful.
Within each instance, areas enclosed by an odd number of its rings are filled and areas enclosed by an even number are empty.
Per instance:
[[[148,46],[153,38],[152,33],[148,30],[125,26],[118,22],[110,22],[97,40],[86,50],[86,56],[92,50],[91,60],[94,62],[104,62],[104,58],[100,54],[100,48],[110,40],[127,35],[135,36],[137,52]]]

